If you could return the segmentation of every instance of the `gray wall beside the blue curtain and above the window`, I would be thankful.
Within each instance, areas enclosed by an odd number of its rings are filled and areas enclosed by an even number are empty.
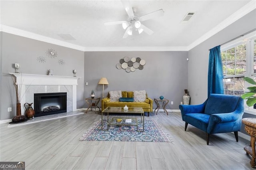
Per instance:
[[[188,90],[192,105],[203,103],[207,98],[208,49],[232,40],[254,28],[256,28],[256,10],[188,51]]]

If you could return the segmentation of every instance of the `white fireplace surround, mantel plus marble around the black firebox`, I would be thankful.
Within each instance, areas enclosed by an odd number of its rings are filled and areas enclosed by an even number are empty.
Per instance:
[[[21,106],[24,103],[34,103],[34,93],[56,93],[56,92],[70,92],[67,94],[67,112],[76,111],[76,86],[77,81],[80,77],[67,77],[67,76],[56,76],[56,75],[35,75],[35,74],[19,74],[10,73],[16,77],[16,82],[18,83],[18,89],[21,90],[22,99],[20,99]],[[22,84],[20,83],[22,82]],[[40,87],[44,87],[43,91]],[[52,88],[56,87],[56,88]],[[69,88],[70,87],[70,91]],[[50,90],[47,90],[50,89]],[[28,89],[26,91],[26,89]],[[33,97],[26,95],[29,91],[33,93]],[[26,92],[26,93],[25,93]],[[72,94],[71,94],[72,93]],[[26,99],[27,98],[27,99]],[[70,109],[68,109],[70,108]],[[25,113],[25,108],[22,107],[22,115]]]

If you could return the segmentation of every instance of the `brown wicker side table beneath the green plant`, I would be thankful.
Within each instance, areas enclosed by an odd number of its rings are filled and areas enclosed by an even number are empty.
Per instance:
[[[256,141],[256,118],[243,118],[242,123],[244,123],[245,127],[244,130],[251,136],[250,145],[244,146],[244,150],[246,154],[250,154],[252,156],[252,160],[250,164],[252,168],[256,165],[255,164],[255,141]]]

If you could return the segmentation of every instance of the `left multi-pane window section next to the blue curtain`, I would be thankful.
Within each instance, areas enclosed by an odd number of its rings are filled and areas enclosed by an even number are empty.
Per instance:
[[[244,76],[246,74],[246,43],[242,43],[222,51],[221,57],[223,64],[225,94],[239,96],[244,94]]]

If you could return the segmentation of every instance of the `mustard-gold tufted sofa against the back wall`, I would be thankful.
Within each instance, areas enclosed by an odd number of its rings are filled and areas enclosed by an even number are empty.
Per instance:
[[[122,97],[134,97],[133,91],[122,91]],[[146,94],[146,100],[144,102],[124,102],[124,101],[110,101],[110,95],[108,93],[108,97],[101,100],[101,108],[102,111],[106,109],[107,107],[124,107],[127,105],[128,107],[142,107],[144,112],[153,111],[153,100],[148,98],[148,95]]]

